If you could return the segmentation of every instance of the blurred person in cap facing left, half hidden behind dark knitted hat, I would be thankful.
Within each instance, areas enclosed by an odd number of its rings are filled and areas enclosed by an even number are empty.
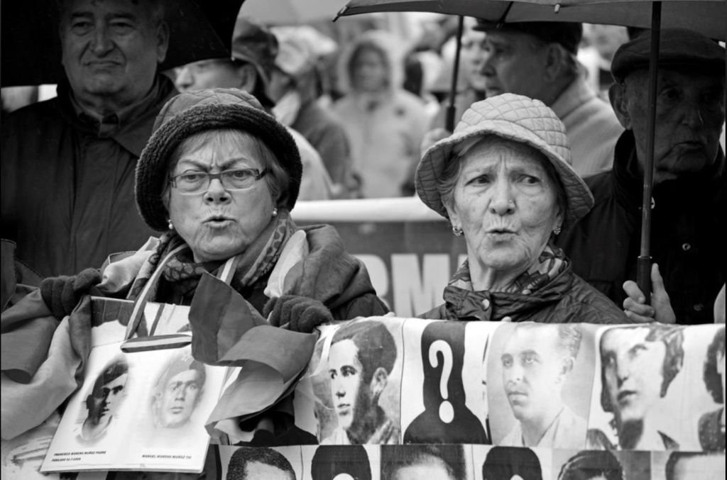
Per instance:
[[[273,114],[276,102],[268,88],[278,54],[278,40],[268,28],[238,18],[233,35],[233,57],[193,62],[177,69],[177,88],[195,91],[212,88],[235,88],[247,91]],[[300,150],[303,176],[300,200],[329,200],[332,182],[321,155],[298,131],[286,126]]]

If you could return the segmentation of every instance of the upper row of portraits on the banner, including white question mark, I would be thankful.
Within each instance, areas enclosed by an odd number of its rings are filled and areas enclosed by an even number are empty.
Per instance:
[[[360,320],[317,351],[321,444],[724,450],[716,325]]]

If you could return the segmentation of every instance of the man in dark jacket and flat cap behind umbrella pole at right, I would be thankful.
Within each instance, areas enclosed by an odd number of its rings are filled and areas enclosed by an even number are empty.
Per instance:
[[[640,251],[643,163],[648,118],[650,36],[614,55],[611,105],[624,126],[614,168],[587,179],[593,209],[558,244],[573,269],[616,304],[635,280]],[[698,33],[662,30],[651,198],[651,256],[664,276],[676,320],[712,322],[725,282],[725,49]],[[652,276],[658,272],[652,272]]]

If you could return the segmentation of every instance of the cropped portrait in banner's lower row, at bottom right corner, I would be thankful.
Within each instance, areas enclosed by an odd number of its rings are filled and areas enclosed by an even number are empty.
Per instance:
[[[724,452],[651,452],[651,478],[724,480]]]

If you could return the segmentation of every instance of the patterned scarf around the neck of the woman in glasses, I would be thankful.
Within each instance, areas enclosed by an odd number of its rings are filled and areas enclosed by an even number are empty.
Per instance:
[[[296,229],[289,212],[281,209],[278,216],[273,217],[273,220],[260,232],[252,244],[241,253],[230,285],[235,290],[241,291],[264,278],[275,267],[285,243]],[[161,259],[184,243],[177,232],[169,231],[162,235],[156,250],[142,265],[126,298],[136,300],[153,272],[158,268]],[[172,285],[174,296],[189,296],[197,288],[199,279],[204,272],[214,274],[222,264],[224,261],[197,263],[193,261],[190,248],[185,248],[166,262],[161,275]],[[148,298],[150,301],[164,301],[164,299],[156,299],[157,288],[158,285],[152,286]]]

